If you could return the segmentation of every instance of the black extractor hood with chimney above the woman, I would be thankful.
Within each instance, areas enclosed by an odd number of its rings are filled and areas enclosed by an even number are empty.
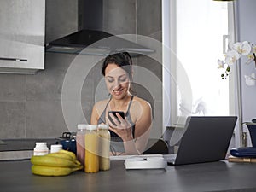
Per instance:
[[[46,51],[85,55],[108,55],[113,50],[128,51],[132,55],[154,52],[154,49],[103,32],[102,9],[102,0],[79,0],[78,32],[49,42]]]

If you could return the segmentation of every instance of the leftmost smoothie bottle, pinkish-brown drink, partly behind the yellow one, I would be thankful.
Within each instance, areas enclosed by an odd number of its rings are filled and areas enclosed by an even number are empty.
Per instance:
[[[83,166],[84,166],[84,154],[85,154],[85,147],[84,147],[85,146],[85,143],[84,143],[85,131],[86,131],[86,125],[79,124],[77,135],[76,135],[77,159]]]

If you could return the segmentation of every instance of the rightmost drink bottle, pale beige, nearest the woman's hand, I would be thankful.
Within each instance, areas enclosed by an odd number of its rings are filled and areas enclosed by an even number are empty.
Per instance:
[[[108,129],[109,125],[98,125],[100,170],[102,171],[110,169],[110,132]]]

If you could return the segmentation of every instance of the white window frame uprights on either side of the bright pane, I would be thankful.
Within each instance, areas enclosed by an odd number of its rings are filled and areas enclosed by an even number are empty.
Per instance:
[[[162,0],[162,44],[163,44],[163,131],[166,126],[173,126],[172,122],[177,122],[180,117],[177,116],[177,89],[172,84],[172,78],[175,79],[176,74],[172,73],[177,70],[175,56],[172,56],[172,49],[176,49],[176,1]],[[228,42],[236,42],[236,23],[235,23],[235,4],[228,3]],[[174,27],[173,27],[174,26]],[[172,41],[171,41],[172,39]],[[224,48],[227,47],[223,44]],[[220,53],[221,55],[222,53]],[[235,144],[241,146],[241,84],[239,81],[239,68],[233,66],[229,77],[229,108],[230,115],[238,116],[238,123],[235,128]],[[172,76],[172,77],[171,77]],[[176,106],[172,108],[172,106]],[[171,109],[172,108],[172,109]]]

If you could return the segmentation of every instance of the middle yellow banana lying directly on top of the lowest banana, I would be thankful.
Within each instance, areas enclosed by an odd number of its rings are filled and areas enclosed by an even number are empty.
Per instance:
[[[47,155],[32,156],[31,162],[37,166],[59,166],[59,167],[79,167],[80,165],[73,160],[67,160],[58,157],[51,157]]]

